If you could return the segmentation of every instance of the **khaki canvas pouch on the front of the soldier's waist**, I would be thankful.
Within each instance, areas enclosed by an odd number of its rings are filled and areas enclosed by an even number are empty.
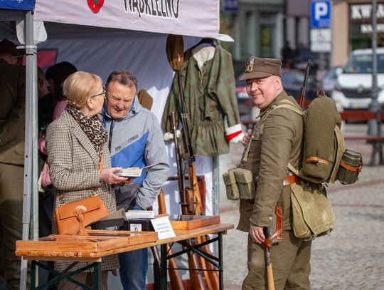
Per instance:
[[[253,200],[255,199],[255,185],[250,170],[240,167],[230,167],[223,174],[225,191],[228,200]]]

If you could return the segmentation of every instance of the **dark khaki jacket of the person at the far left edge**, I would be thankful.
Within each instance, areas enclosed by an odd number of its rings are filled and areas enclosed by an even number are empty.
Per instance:
[[[24,164],[26,70],[0,59],[0,162]]]

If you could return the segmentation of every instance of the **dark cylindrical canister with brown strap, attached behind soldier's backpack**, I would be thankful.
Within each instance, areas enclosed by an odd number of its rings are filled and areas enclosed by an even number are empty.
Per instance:
[[[363,157],[355,150],[346,149],[338,167],[337,179],[343,185],[351,185],[358,180],[358,174],[363,167]]]

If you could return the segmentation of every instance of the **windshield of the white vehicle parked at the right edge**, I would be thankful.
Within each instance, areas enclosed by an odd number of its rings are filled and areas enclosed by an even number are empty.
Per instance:
[[[378,54],[378,73],[384,73],[384,54]],[[349,58],[344,66],[345,73],[372,73],[372,55],[357,54]]]

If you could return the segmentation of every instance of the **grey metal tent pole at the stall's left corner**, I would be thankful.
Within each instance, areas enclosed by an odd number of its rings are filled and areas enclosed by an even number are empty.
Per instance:
[[[38,164],[37,164],[37,56],[33,41],[33,11],[26,11],[24,39],[26,42],[26,145],[23,183],[23,239],[29,239],[30,222],[33,239],[38,237]],[[31,210],[32,209],[32,210]],[[31,221],[32,217],[32,221]],[[28,263],[21,259],[20,289],[26,289]]]

